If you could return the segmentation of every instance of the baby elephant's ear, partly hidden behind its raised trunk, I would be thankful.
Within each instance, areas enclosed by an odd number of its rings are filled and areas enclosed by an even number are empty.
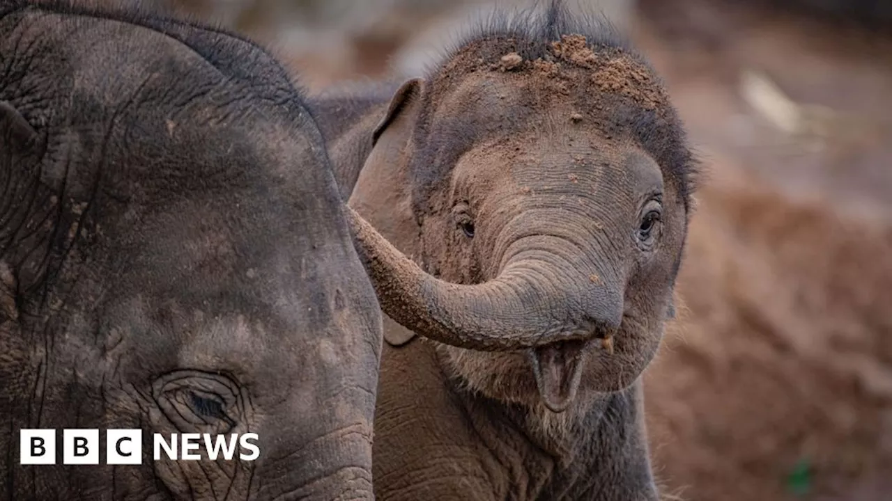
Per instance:
[[[372,133],[372,151],[350,199],[353,209],[406,255],[417,253],[417,221],[412,213],[407,146],[421,110],[425,82],[414,78],[393,94]],[[415,333],[384,316],[384,341],[402,346]]]

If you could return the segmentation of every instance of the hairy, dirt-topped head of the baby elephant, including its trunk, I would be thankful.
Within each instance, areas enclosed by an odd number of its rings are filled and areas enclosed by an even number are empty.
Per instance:
[[[403,169],[424,272],[353,218],[385,313],[472,389],[553,411],[654,356],[696,165],[647,63],[591,31],[489,29],[397,92],[369,162]]]

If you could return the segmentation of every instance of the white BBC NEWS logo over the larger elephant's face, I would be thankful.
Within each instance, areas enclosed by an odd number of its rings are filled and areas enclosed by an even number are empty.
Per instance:
[[[212,461],[254,461],[260,456],[257,433],[211,435],[210,433],[153,434],[153,458],[198,461],[203,449]],[[99,464],[99,430],[62,430],[62,464]],[[55,430],[22,430],[19,464],[56,464]],[[142,430],[106,430],[105,464],[143,464]]]

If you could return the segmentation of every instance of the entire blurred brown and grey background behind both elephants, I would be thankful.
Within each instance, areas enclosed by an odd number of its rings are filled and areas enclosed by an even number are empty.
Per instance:
[[[493,7],[154,2],[272,47],[312,90],[417,75]],[[892,2],[576,4],[662,73],[708,171],[645,376],[666,497],[892,500]]]

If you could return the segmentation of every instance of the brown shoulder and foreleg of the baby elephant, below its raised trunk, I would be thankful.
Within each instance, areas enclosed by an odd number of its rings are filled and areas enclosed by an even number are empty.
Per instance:
[[[384,345],[372,448],[378,499],[495,501],[505,490],[424,338]]]

